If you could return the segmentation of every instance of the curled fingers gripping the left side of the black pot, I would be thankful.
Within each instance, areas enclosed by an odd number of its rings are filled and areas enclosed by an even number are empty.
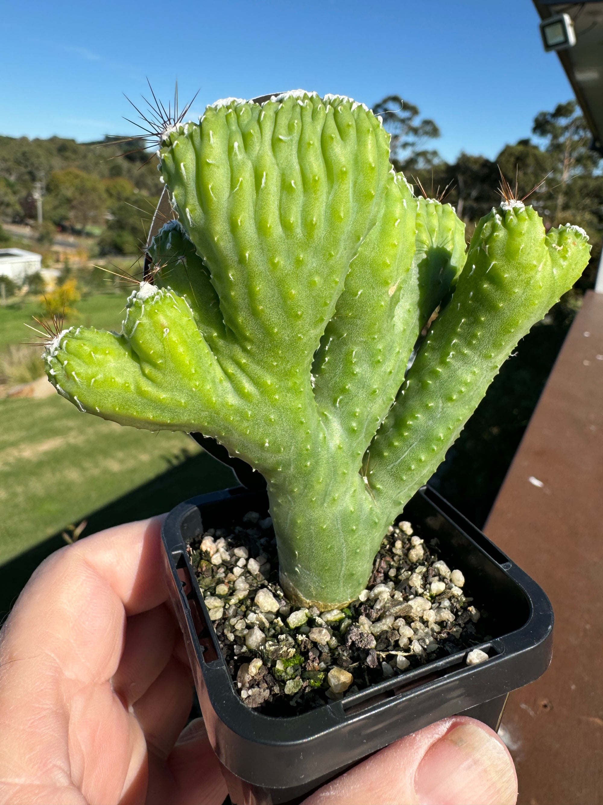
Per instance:
[[[167,604],[161,519],[51,555],[0,633],[0,802],[219,805]]]

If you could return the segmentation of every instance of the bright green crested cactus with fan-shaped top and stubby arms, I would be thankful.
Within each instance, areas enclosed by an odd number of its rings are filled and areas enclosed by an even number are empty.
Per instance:
[[[503,361],[576,282],[588,238],[546,233],[507,199],[466,249],[453,208],[413,195],[380,118],[347,97],[217,101],[166,130],[158,156],[178,221],[150,246],[153,283],[120,333],[56,337],[48,377],[80,411],[201,431],[252,464],[286,594],[343,605]]]

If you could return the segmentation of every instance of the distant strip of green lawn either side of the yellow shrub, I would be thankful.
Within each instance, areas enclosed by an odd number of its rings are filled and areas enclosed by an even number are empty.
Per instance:
[[[83,324],[84,327],[94,327],[120,330],[121,320],[125,309],[126,295],[106,294],[89,296],[76,304],[77,316],[68,320],[69,324]],[[35,339],[35,332],[31,332],[25,324],[35,324],[32,316],[40,317],[42,307],[37,301],[27,301],[23,305],[11,305],[0,308],[0,351],[10,344]]]

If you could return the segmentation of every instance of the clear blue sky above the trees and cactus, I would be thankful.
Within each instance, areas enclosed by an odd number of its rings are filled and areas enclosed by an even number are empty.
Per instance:
[[[4,3],[0,133],[80,141],[131,132],[146,94],[207,103],[284,89],[372,105],[400,94],[433,118],[446,159],[494,157],[572,97],[531,0]]]

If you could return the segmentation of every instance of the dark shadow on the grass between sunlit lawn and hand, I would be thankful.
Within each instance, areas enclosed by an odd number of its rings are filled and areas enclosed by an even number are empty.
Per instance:
[[[83,536],[169,511],[189,497],[236,486],[230,469],[206,452],[193,456],[123,497],[88,514]],[[80,538],[81,539],[81,538]],[[0,624],[35,568],[65,541],[60,532],[0,566]]]

